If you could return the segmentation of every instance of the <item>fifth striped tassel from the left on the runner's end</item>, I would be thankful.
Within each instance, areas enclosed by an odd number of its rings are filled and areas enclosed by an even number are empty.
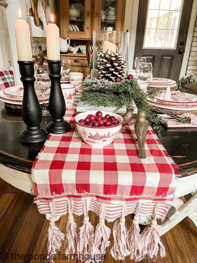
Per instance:
[[[130,254],[127,250],[127,230],[125,218],[117,220],[113,226],[113,241],[111,255],[115,260],[124,260]]]

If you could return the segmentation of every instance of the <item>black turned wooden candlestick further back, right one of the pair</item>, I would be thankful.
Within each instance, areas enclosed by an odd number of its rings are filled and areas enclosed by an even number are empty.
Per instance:
[[[68,132],[71,127],[63,117],[66,112],[66,103],[61,90],[61,61],[47,60],[49,65],[49,78],[51,79],[51,91],[49,96],[49,112],[53,120],[46,125],[48,133],[60,134]]]

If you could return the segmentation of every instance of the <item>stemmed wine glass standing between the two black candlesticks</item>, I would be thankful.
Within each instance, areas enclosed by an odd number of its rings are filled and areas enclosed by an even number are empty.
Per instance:
[[[43,99],[43,108],[42,115],[48,116],[50,115],[49,111],[46,109],[44,94],[46,90],[48,90],[51,86],[51,80],[49,78],[49,68],[48,66],[35,66],[35,89],[39,90],[42,94]]]

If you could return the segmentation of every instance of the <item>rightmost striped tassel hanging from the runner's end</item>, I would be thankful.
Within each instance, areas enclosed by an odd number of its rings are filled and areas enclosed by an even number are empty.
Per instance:
[[[165,257],[165,247],[159,236],[159,229],[161,228],[157,224],[157,204],[155,205],[154,219],[151,221],[151,225],[147,226],[141,234],[142,242],[142,258],[149,255],[150,258],[153,256],[157,257],[157,253],[160,246],[160,256]],[[159,246],[158,246],[159,245]]]

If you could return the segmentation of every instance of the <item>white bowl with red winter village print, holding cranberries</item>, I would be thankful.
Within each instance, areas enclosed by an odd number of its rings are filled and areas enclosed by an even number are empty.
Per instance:
[[[122,127],[123,118],[116,113],[102,111],[102,117],[105,117],[106,114],[109,114],[110,116],[114,116],[116,119],[118,119],[119,123],[108,127],[90,127],[79,123],[79,120],[85,119],[89,114],[95,115],[96,112],[96,110],[91,112],[81,112],[75,116],[74,120],[77,131],[85,143],[95,146],[96,148],[101,148],[110,144],[115,139]]]

